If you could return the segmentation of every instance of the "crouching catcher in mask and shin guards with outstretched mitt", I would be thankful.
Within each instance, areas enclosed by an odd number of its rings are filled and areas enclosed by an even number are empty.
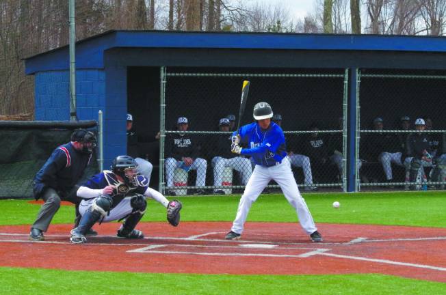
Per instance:
[[[77,197],[81,221],[71,231],[70,241],[85,243],[86,233],[94,223],[124,220],[116,236],[118,238],[144,238],[142,231],[135,229],[146,212],[146,197],[151,197],[167,208],[168,222],[177,226],[180,222],[181,202],[168,201],[158,191],[147,186],[148,180],[137,173],[137,163],[131,156],[117,156],[112,171],[94,175],[79,187]]]

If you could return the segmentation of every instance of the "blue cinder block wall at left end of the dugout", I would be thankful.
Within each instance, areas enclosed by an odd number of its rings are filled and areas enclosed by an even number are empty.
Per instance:
[[[36,73],[36,120],[70,120],[69,79],[68,70]],[[77,70],[76,107],[79,120],[98,120],[99,110],[103,111],[104,168],[108,169],[114,157],[127,152],[127,68]]]

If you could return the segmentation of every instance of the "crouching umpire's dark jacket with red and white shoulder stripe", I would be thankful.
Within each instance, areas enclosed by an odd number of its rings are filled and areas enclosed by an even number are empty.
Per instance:
[[[68,197],[90,163],[91,154],[77,151],[71,143],[57,147],[34,177],[34,198],[39,199],[44,188],[51,187],[60,197]]]

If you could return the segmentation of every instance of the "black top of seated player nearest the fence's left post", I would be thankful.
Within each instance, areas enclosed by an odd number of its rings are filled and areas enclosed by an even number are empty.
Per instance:
[[[200,145],[190,133],[175,133],[166,137],[166,156],[181,160],[182,157],[197,158]]]

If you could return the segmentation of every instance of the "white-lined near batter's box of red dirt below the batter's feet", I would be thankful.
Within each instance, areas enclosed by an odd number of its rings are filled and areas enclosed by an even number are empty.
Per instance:
[[[214,256],[260,256],[260,257],[310,257],[330,249],[313,247],[280,247],[274,244],[158,244],[127,251],[128,253],[163,253],[172,255],[214,255]]]

